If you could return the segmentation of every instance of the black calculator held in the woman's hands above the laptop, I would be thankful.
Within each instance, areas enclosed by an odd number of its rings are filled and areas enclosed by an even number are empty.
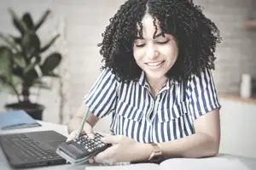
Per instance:
[[[83,164],[112,145],[101,141],[102,134],[94,134],[94,139],[85,134],[78,139],[63,142],[58,145],[56,153],[72,164]]]

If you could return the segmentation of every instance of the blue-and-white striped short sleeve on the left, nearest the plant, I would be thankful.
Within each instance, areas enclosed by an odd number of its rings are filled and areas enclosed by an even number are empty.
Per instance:
[[[102,118],[111,113],[116,103],[116,78],[109,70],[103,70],[96,82],[84,96],[84,103],[97,117]]]

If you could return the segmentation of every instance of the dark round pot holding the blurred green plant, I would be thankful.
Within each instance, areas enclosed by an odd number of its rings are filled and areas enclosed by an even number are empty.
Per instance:
[[[43,111],[45,109],[44,105],[34,104],[34,103],[13,103],[5,105],[7,111],[17,111],[23,110],[33,119],[42,120]]]

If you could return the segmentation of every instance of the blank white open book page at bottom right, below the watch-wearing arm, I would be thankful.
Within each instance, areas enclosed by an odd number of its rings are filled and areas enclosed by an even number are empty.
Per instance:
[[[238,159],[224,156],[208,158],[172,158],[160,164],[160,170],[250,170]]]

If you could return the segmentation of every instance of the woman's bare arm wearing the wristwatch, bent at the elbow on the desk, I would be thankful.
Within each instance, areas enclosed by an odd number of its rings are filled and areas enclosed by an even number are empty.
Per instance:
[[[220,121],[218,109],[212,110],[195,120],[195,134],[160,143],[160,149],[166,158],[187,157],[199,158],[216,156],[220,142]],[[151,144],[139,144],[145,155],[137,160],[145,159],[153,151]]]

